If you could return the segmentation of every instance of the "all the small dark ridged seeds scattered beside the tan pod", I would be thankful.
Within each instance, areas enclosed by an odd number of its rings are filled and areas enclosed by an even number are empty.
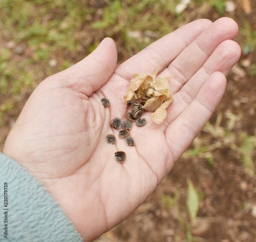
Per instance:
[[[105,97],[102,98],[101,101],[104,107],[108,107],[110,105],[109,100]],[[113,120],[111,120],[110,125],[115,129],[119,129],[121,127],[122,130],[119,131],[118,136],[121,139],[125,139],[126,144],[128,146],[134,146],[134,139],[129,136],[130,135],[129,130],[133,127],[132,122],[135,122],[138,127],[141,127],[146,124],[146,119],[140,118],[143,114],[143,109],[141,104],[137,103],[137,101],[134,101],[134,100],[128,101],[127,104],[131,106],[131,112],[128,112],[126,115],[127,120],[122,121],[121,119],[116,117],[116,118],[113,118]],[[116,143],[116,137],[113,134],[108,134],[106,137],[106,140],[110,144]],[[126,158],[126,154],[124,151],[117,151],[115,153],[115,158],[117,162],[124,162]]]

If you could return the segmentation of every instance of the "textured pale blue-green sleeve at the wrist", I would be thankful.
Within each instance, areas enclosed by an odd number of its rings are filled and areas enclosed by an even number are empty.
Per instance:
[[[0,186],[0,224],[4,231],[0,241],[83,241],[70,219],[40,182],[2,153]]]

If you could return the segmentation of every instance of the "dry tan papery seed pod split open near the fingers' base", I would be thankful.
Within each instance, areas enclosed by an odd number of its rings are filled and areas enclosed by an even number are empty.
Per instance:
[[[166,118],[166,108],[172,103],[173,98],[168,78],[157,77],[157,73],[158,70],[153,74],[133,74],[124,99],[131,105],[134,118],[138,119],[143,109],[153,112],[152,121],[159,124]],[[140,104],[135,100],[140,100]]]

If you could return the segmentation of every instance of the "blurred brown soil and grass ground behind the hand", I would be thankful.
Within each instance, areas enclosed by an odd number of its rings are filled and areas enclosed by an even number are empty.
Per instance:
[[[217,111],[154,194],[97,242],[256,242],[256,1],[2,0],[0,16],[0,150],[38,83],[104,37],[121,63],[192,20],[236,20],[243,54]]]

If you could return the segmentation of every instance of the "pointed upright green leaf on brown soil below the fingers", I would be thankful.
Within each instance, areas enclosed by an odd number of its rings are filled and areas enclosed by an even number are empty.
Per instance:
[[[188,191],[186,198],[186,206],[189,211],[190,219],[193,220],[198,214],[198,209],[200,205],[200,199],[198,192],[196,191],[191,180],[188,181]]]

